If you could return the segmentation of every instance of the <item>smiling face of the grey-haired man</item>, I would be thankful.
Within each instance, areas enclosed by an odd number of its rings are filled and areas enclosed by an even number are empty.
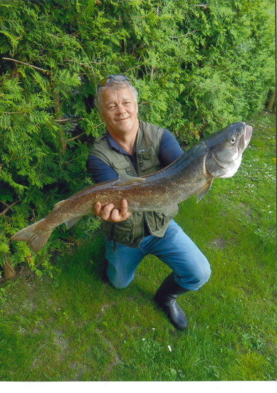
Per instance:
[[[127,135],[138,130],[137,103],[130,88],[106,88],[102,95],[102,120],[113,135]]]

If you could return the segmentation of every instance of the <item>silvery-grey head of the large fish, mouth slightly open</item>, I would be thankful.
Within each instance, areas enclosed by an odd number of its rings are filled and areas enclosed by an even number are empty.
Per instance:
[[[252,136],[251,125],[236,122],[211,134],[206,140],[206,169],[212,177],[232,177]]]

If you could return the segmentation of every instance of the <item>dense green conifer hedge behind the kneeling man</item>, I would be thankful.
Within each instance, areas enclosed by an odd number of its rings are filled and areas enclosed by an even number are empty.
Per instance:
[[[93,237],[91,216],[38,253],[9,240],[92,184],[85,161],[105,131],[93,98],[106,75],[127,74],[140,118],[183,147],[262,110],[274,86],[271,3],[0,1],[0,265],[51,270],[53,251]]]

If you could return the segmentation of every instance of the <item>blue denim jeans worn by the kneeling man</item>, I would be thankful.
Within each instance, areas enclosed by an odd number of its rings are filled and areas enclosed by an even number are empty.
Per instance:
[[[137,266],[147,254],[160,258],[174,272],[177,284],[188,290],[197,290],[207,283],[211,268],[207,258],[175,221],[162,238],[146,236],[137,248],[122,246],[105,239],[105,257],[108,260],[107,275],[115,288],[125,288],[135,276]]]

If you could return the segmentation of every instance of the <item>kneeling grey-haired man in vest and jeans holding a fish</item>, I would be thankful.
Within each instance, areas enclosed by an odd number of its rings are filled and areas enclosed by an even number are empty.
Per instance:
[[[143,176],[167,166],[183,152],[168,130],[137,118],[137,91],[125,75],[110,75],[98,84],[95,105],[107,132],[98,137],[90,150],[87,167],[96,183],[120,175]],[[187,327],[187,317],[176,299],[189,290],[198,290],[211,273],[207,258],[173,221],[178,206],[162,211],[121,210],[113,201],[95,204],[102,219],[107,276],[115,288],[132,281],[137,266],[147,254],[160,258],[172,269],[157,290],[155,300],[177,329]]]

